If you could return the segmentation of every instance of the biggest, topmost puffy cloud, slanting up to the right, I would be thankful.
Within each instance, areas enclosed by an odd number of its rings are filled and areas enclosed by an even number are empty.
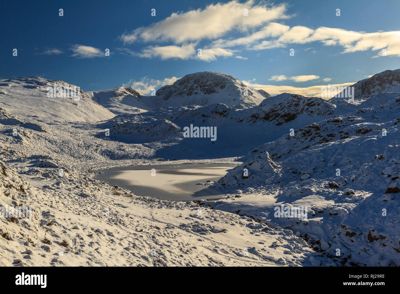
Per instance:
[[[235,29],[247,31],[272,20],[288,18],[285,14],[286,4],[267,6],[255,2],[249,0],[239,3],[234,0],[210,4],[204,9],[172,13],[151,26],[138,28],[129,34],[124,33],[120,39],[124,43],[172,40],[180,44],[202,39],[212,40]],[[244,9],[248,9],[248,16],[244,16]]]

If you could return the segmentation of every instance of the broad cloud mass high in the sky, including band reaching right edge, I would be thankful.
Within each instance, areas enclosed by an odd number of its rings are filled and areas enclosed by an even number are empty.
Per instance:
[[[256,0],[210,4],[204,9],[172,13],[150,26],[125,32],[119,39],[124,44],[146,44],[148,47],[132,54],[142,58],[212,61],[220,56],[241,58],[243,54],[237,52],[243,50],[288,48],[289,45],[313,42],[341,46],[343,54],[371,50],[378,51],[374,58],[400,56],[400,31],[367,33],[341,28],[290,27],[277,22],[291,17],[287,7],[287,4],[271,5]],[[244,10],[248,16],[244,16]],[[170,44],[164,45],[168,42]],[[202,57],[196,57],[198,48],[194,46],[198,44],[204,48]],[[312,46],[302,50],[316,52]]]

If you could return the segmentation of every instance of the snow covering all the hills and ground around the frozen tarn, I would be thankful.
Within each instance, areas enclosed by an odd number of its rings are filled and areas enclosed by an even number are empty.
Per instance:
[[[1,80],[0,206],[32,215],[0,218],[0,265],[399,265],[397,72],[352,103],[241,96],[246,86],[216,72],[155,97],[122,86],[78,101],[47,96],[66,82]],[[217,140],[184,138],[190,124],[216,126]],[[96,180],[168,161],[235,166],[211,183],[218,200],[159,200]],[[168,184],[148,177],[138,176]],[[307,216],[277,218],[282,205]]]

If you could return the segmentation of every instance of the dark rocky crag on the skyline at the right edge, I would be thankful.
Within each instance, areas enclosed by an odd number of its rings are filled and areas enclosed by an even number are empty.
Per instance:
[[[354,87],[354,98],[370,98],[371,96],[383,92],[400,92],[400,69],[385,70],[372,77],[360,80]],[[340,100],[342,96],[337,95],[333,100]]]

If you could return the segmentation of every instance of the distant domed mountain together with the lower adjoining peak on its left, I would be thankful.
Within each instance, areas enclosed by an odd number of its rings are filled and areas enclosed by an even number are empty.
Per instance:
[[[146,112],[175,106],[208,106],[226,104],[241,108],[260,104],[271,97],[264,90],[255,90],[238,79],[221,72],[188,74],[172,85],[160,88],[156,96],[140,95],[130,86],[86,92],[94,101],[115,114]]]

